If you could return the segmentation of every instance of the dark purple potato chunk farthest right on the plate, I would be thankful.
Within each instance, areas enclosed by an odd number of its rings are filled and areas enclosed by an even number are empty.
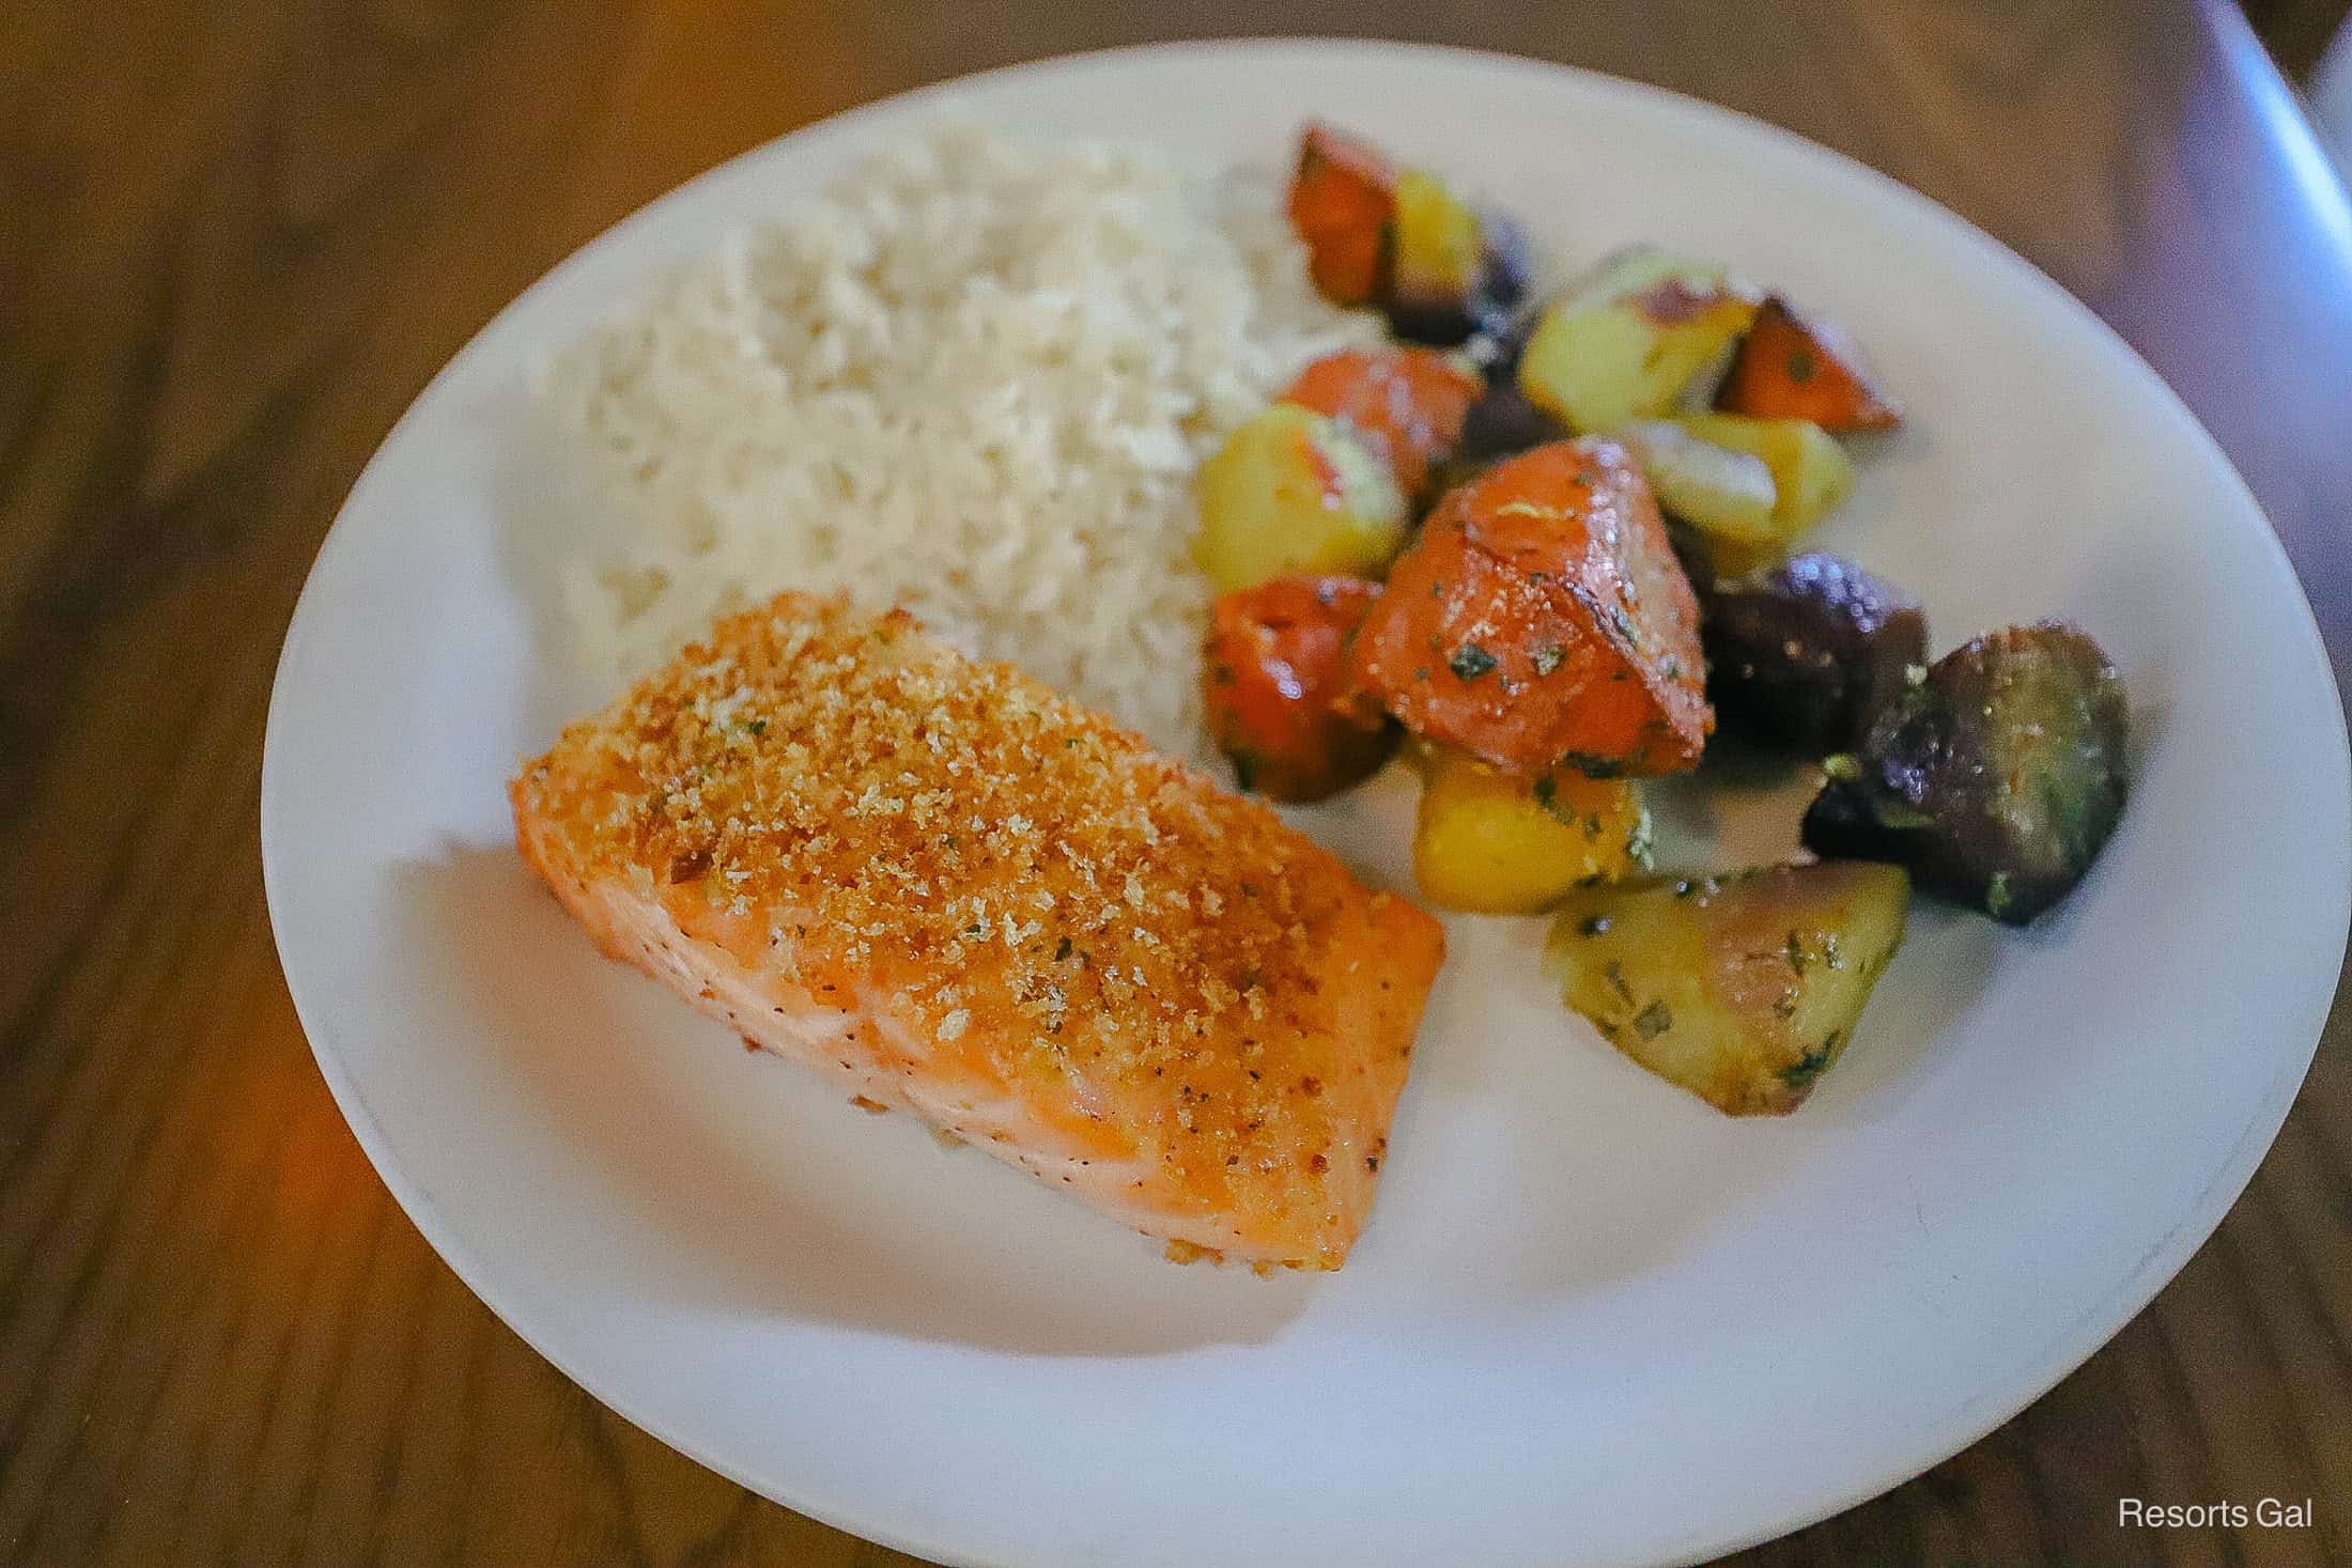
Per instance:
[[[1987,632],[1823,764],[1804,844],[1907,865],[1922,891],[2023,926],[2122,820],[2129,745],[2124,682],[2096,642],[2060,621]]]

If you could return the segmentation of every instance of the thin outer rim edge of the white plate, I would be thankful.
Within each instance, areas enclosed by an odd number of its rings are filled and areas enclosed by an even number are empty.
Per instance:
[[[1844,165],[1844,172],[1863,176],[1863,181],[1875,188],[1879,200],[1910,209],[1912,216],[1933,223],[1936,228],[1945,230],[1952,240],[1973,249],[1985,266],[2006,270],[2013,282],[2037,289],[2039,294],[2046,296],[2049,303],[2074,315],[2082,324],[2091,327],[2096,336],[2105,339],[2107,348],[2119,350],[2124,362],[2129,362],[2133,371],[2159,393],[2161,402],[2171,407],[2178,421],[2194,433],[2194,440],[2201,444],[2201,456],[2230,477],[2239,496],[2246,501],[2246,508],[2256,517],[2260,517],[2263,529],[2258,548],[2267,550],[2270,567],[2284,576],[2286,585],[2293,590],[2296,607],[2300,609],[2298,623],[2293,628],[2286,628],[2291,632],[2288,642],[2293,644],[2296,656],[2300,656],[2300,661],[2305,661],[2310,668],[2317,670],[2319,679],[2324,682],[2324,691],[2333,698],[2336,729],[2331,731],[2331,736],[2336,745],[2328,748],[2333,769],[2331,778],[2326,780],[2331,785],[2328,795],[2338,802],[2333,846],[2338,851],[2336,858],[2340,863],[2352,863],[2352,748],[2347,748],[2343,689],[2336,679],[2336,665],[2333,658],[2328,656],[2326,642],[2319,635],[2319,623],[2312,611],[2303,578],[2293,569],[2293,562],[2286,555],[2286,548],[2279,541],[2279,531],[2272,524],[2267,510],[2253,496],[2251,487],[2232,463],[2230,454],[2220,447],[2220,442],[2197,416],[2197,411],[2190,409],[2187,402],[2173,390],[2173,386],[2145,360],[2145,355],[2140,355],[2140,350],[2129,339],[2124,339],[2112,324],[2105,322],[2105,317],[2091,310],[2091,306],[2084,303],[2079,296],[2074,296],[2065,284],[2044,273],[2027,256],[2011,249],[1997,235],[1978,228],[1976,223],[1952,212],[1943,202],[1936,202],[1926,193],[1863,162],[1860,158],[1830,148],[1820,141],[1813,141],[1811,136],[1773,125],[1771,120],[1762,120],[1759,115],[1750,115],[1745,110],[1729,108],[1710,99],[1698,99],[1670,87],[1658,87],[1653,82],[1644,82],[1637,78],[1613,75],[1588,66],[1548,61],[1529,54],[1510,54],[1503,49],[1385,40],[1367,35],[1261,35],[1261,38],[1221,35],[1221,38],[1195,38],[1195,40],[1134,42],[1103,49],[1047,54],[1037,59],[993,66],[985,71],[960,73],[934,82],[922,82],[917,87],[908,87],[903,92],[880,99],[868,99],[863,103],[854,103],[818,120],[809,120],[793,129],[779,132],[776,136],[769,136],[750,148],[743,148],[741,153],[724,158],[717,165],[710,165],[708,169],[687,176],[684,181],[661,190],[652,200],[642,202],[640,207],[630,209],[607,228],[590,235],[586,242],[581,242],[562,259],[557,259],[553,266],[548,266],[543,273],[539,273],[539,277],[534,277],[520,294],[506,301],[496,313],[492,313],[492,317],[485,320],[456,348],[456,353],[452,353],[449,360],[442,362],[440,369],[435,369],[435,374],[423,383],[423,388],[419,388],[416,397],[407,404],[407,409],[402,409],[400,418],[395,418],[393,425],[383,433],[383,437],[376,442],[376,449],[369,454],[367,463],[353,477],[350,489],[339,501],[336,517],[329,524],[327,534],[322,536],[318,552],[303,576],[303,588],[301,595],[296,597],[294,614],[287,623],[287,632],[280,644],[280,656],[270,675],[270,701],[263,729],[263,755],[261,755],[261,780],[259,780],[259,818],[261,818],[259,842],[261,842],[263,898],[270,910],[273,945],[278,947],[280,973],[285,976],[287,994],[294,1004],[296,1020],[303,1027],[303,1039],[308,1041],[310,1056],[320,1067],[320,1077],[327,1081],[327,1091],[332,1093],[336,1107],[341,1110],[346,1124],[350,1126],[353,1138],[367,1154],[367,1161],[374,1168],[376,1178],[400,1204],[402,1213],[409,1215],[419,1234],[423,1234],[423,1239],[433,1246],[435,1255],[440,1255],[442,1262],[449,1265],[449,1269],[459,1276],[459,1281],[468,1291],[473,1291],[473,1295],[485,1307],[489,1307],[489,1312],[510,1333],[515,1333],[524,1345],[529,1345],[534,1354],[546,1359],[557,1373],[579,1385],[597,1403],[614,1410],[616,1415],[621,1415],[637,1429],[647,1432],[656,1441],[666,1443],[668,1448],[675,1448],[677,1453],[687,1455],[696,1465],[703,1465],[706,1469],[713,1469],[720,1476],[734,1481],[736,1486],[771,1502],[779,1502],[781,1507],[788,1507],[797,1514],[816,1519],[818,1523],[858,1535],[868,1542],[906,1552],[913,1556],[922,1556],[929,1561],[953,1563],[957,1568],[1035,1568],[1035,1563],[1040,1563],[1042,1559],[971,1556],[969,1552],[957,1549],[955,1542],[927,1540],[917,1533],[901,1530],[891,1521],[868,1516],[863,1509],[854,1505],[842,1505],[840,1500],[833,1497],[793,1495],[795,1488],[769,1486],[762,1479],[753,1479],[741,1467],[710,1455],[696,1441],[675,1432],[670,1422],[649,1420],[642,1413],[633,1410],[630,1406],[637,1401],[623,1403],[612,1399],[597,1387],[597,1380],[581,1375],[569,1356],[555,1354],[543,1342],[541,1335],[532,1333],[529,1328],[522,1326],[522,1321],[517,1321],[524,1314],[520,1314],[515,1302],[506,1298],[503,1286],[489,1284],[494,1269],[482,1258],[473,1255],[473,1251],[459,1237],[454,1220],[390,1157],[390,1140],[386,1138],[381,1124],[376,1121],[374,1110],[369,1107],[367,1095],[360,1088],[358,1079],[350,1074],[343,1053],[332,1051],[327,1044],[322,1044],[334,1032],[332,1023],[334,1011],[325,1006],[325,1001],[313,990],[318,985],[315,976],[308,980],[299,978],[296,966],[287,964],[287,943],[285,936],[278,931],[278,910],[282,907],[280,884],[292,875],[292,870],[287,870],[285,856],[278,851],[282,827],[273,830],[273,823],[282,820],[280,818],[282,809],[273,806],[273,802],[285,788],[285,766],[278,764],[278,748],[280,748],[278,738],[280,733],[285,733],[287,724],[285,708],[292,701],[287,672],[296,661],[296,651],[318,635],[315,588],[325,576],[322,567],[329,562],[329,555],[334,550],[348,548],[350,531],[343,524],[350,517],[350,501],[367,487],[369,477],[383,461],[383,454],[397,442],[402,430],[414,418],[419,418],[419,409],[423,409],[435,397],[435,393],[440,393],[442,386],[454,378],[461,364],[477,353],[485,339],[496,334],[501,324],[510,315],[522,310],[534,296],[539,296],[543,289],[550,289],[560,275],[572,273],[579,266],[586,266],[590,254],[600,254],[623,244],[626,237],[633,235],[635,230],[659,223],[670,207],[684,205],[689,195],[696,193],[703,183],[720,181],[729,172],[739,169],[739,165],[767,158],[786,143],[816,143],[844,134],[856,134],[866,120],[901,115],[924,101],[946,103],[953,101],[960,89],[981,82],[1002,82],[1007,78],[1037,80],[1058,73],[1080,73],[1089,68],[1117,66],[1129,61],[1171,59],[1171,56],[1216,56],[1216,54],[1225,56],[1312,54],[1319,59],[1357,54],[1367,59],[1390,59],[1390,61],[1402,56],[1449,59],[1449,61],[1472,63],[1486,71],[1515,73],[1529,80],[1569,78],[1583,92],[1597,92],[1604,96],[1623,94],[1635,99],[1649,99],[1658,106],[1668,106],[1686,115],[1691,122],[1710,122],[1712,129],[1719,134],[1776,141],[1785,150],[1797,153],[1802,158]],[[2352,884],[2347,884],[2347,891],[2336,903],[2338,903],[2338,914],[2352,910]],[[2352,914],[2345,914],[2345,919],[2352,919]],[[2345,924],[2345,919],[2338,919],[2338,924]],[[2347,936],[2336,938],[2338,976],[2343,971],[2345,943]],[[2147,1309],[2147,1305],[2157,1298],[2157,1293],[2161,1293],[2164,1286],[2173,1281],[2173,1276],[2187,1265],[2187,1260],[2197,1253],[2197,1248],[2201,1248],[2213,1237],[2213,1232],[2227,1218],[2230,1208],[2251,1185],[2256,1171],[2260,1168],[2272,1143],[2277,1140],[2279,1128],[2284,1126],[2286,1114],[2293,1107],[2293,1100],[2305,1077],[2310,1074],[2312,1060],[2317,1058],[2317,1048],[2324,1037],[2326,1018],[2331,1011],[2328,997],[2321,997],[2314,1011],[2317,1016],[2307,1023],[2310,1044],[2300,1048],[2300,1058],[2293,1051],[2288,1051],[2281,1058],[2274,1081],[2267,1086],[2263,1100],[2256,1105],[2253,1117],[2241,1128],[2237,1143],[2230,1147],[2227,1159],[2218,1166],[2213,1180],[2199,1194],[2194,1206],[2190,1206],[2190,1211],[2185,1211],[2171,1222],[2164,1237],[2157,1239],[2133,1262],[2131,1272],[2124,1279],[2119,1279],[2105,1295],[2100,1295],[2096,1302],[2086,1305],[2079,1314],[2074,1314],[2074,1319],[2060,1333],[2046,1340],[2046,1345],[2030,1359],[2032,1371],[2018,1378],[2016,1389],[1985,1403],[1971,1420],[1952,1425],[1945,1436],[1912,1443],[1891,1462],[1870,1467],[1870,1479],[1856,1488],[1825,1497],[1816,1505],[1788,1509],[1776,1519],[1769,1519],[1764,1523],[1743,1530],[1722,1530],[1708,1540],[1698,1542],[1684,1540],[1679,1544],[1665,1547],[1665,1556],[1656,1559],[1661,1568],[1672,1568],[1675,1563],[1703,1563],[1729,1552],[1740,1552],[1769,1540],[1778,1540],[1783,1535],[1804,1530],[1813,1523],[1820,1523],[1853,1507],[1860,1507],[1863,1502],[1870,1502],[1872,1497],[1879,1497],[1917,1479],[1919,1474],[1933,1469],[1936,1465],[1950,1460],[1952,1455],[1976,1446],[1987,1434],[1997,1432],[2018,1413],[2037,1403],[2044,1394],[2049,1394],[2058,1382],[2063,1382],[2077,1368],[2082,1368],[2093,1354],[2098,1354],[2100,1347],[2105,1347],[2117,1333],[2122,1333],[2133,1319],[2138,1319]],[[1952,1434],[1957,1434],[1957,1439]]]

